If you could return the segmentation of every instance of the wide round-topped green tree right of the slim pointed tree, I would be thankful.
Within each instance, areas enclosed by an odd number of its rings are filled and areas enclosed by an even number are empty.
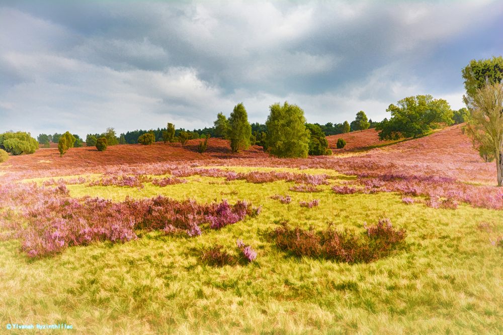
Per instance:
[[[278,157],[307,157],[309,131],[305,126],[304,110],[286,101],[269,108],[271,113],[266,121],[269,152]]]

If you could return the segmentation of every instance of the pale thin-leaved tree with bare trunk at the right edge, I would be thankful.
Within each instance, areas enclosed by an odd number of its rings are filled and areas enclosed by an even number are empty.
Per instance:
[[[498,186],[503,186],[503,84],[488,83],[474,94],[465,95],[464,100],[471,112],[468,134],[481,156],[496,159]]]

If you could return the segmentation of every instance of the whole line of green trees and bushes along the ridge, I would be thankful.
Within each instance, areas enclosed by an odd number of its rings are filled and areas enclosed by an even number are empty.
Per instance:
[[[306,157],[307,155],[331,154],[325,139],[327,135],[376,128],[380,140],[416,138],[430,133],[444,125],[466,122],[463,131],[472,139],[473,145],[487,162],[496,161],[498,186],[503,184],[503,57],[472,60],[462,70],[466,94],[463,96],[467,108],[452,110],[444,99],[431,95],[409,96],[390,104],[386,109],[390,119],[382,122],[368,120],[364,111],[359,111],[353,122],[325,125],[307,124],[304,111],[295,104],[285,102],[270,106],[270,114],[265,124],[249,124],[246,109],[238,103],[227,119],[222,113],[217,115],[214,127],[192,132],[175,129],[171,123],[165,129],[150,131],[136,130],[117,137],[113,128],[103,134],[88,134],[88,146],[96,146],[103,151],[109,145],[141,143],[152,144],[179,141],[182,146],[189,139],[204,138],[199,144],[199,152],[205,152],[208,138],[219,137],[230,141],[233,152],[258,144],[270,154],[278,157]],[[60,155],[73,147],[82,146],[82,139],[75,134],[40,134],[38,142],[26,132],[0,134],[0,162],[11,155],[34,153],[40,144],[49,146],[58,142]],[[343,148],[345,141],[339,139],[337,148]]]

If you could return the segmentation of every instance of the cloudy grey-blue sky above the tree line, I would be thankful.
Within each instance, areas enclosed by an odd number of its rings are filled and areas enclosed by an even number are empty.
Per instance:
[[[461,69],[503,54],[503,2],[0,0],[0,132],[85,137],[250,122],[380,121],[431,94],[463,107]]]

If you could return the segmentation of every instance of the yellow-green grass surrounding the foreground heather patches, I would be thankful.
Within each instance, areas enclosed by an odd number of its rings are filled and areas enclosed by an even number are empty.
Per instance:
[[[100,334],[503,332],[503,250],[490,244],[503,231],[500,211],[405,205],[397,194],[340,195],[329,185],[311,194],[289,191],[293,184],[284,181],[186,179],[143,189],[68,189],[72,196],[114,200],[157,194],[201,202],[247,199],[263,211],[193,239],[139,232],[129,243],[72,247],[39,260],[22,254],[18,241],[0,242],[0,320],[67,323],[79,333]],[[293,201],[269,198],[277,193]],[[314,198],[319,207],[298,204]],[[283,219],[361,232],[365,221],[381,217],[407,231],[406,247],[371,264],[297,259],[268,237]],[[477,230],[480,221],[492,222],[495,231]],[[213,268],[201,262],[202,248],[221,244],[232,251],[238,238],[258,251],[255,263]]]

